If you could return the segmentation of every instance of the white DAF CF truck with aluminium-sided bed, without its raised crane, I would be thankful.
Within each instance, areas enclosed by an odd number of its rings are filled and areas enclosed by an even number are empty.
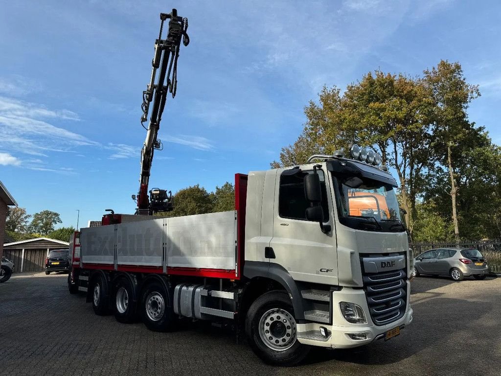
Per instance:
[[[272,364],[387,340],[412,321],[412,255],[397,183],[378,162],[354,146],[236,174],[229,212],[105,215],[71,240],[70,292],[155,331],[183,318],[231,322]]]

